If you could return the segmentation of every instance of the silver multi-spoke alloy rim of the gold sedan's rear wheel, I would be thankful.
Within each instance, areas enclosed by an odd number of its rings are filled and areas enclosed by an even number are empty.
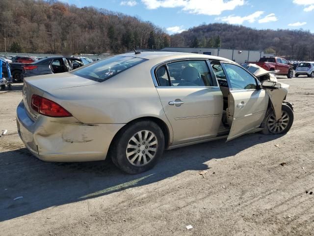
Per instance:
[[[128,142],[127,159],[133,166],[145,166],[155,158],[157,149],[157,136],[152,131],[141,130],[133,134]]]

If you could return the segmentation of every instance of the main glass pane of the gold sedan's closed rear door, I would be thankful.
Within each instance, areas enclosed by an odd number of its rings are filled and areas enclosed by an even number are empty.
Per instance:
[[[207,62],[204,60],[184,60],[169,63],[167,66],[171,86],[213,86]]]

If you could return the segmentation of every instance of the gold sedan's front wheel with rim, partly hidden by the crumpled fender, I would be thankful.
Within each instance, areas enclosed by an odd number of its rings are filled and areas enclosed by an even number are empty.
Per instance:
[[[282,117],[276,121],[273,109],[267,110],[262,122],[263,134],[285,134],[289,131],[293,123],[293,111],[288,105],[283,104],[281,114]]]

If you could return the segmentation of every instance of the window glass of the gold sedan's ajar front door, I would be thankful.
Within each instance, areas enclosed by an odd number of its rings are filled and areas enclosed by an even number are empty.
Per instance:
[[[230,81],[230,89],[256,89],[255,78],[240,66],[234,64],[224,64],[226,73]]]

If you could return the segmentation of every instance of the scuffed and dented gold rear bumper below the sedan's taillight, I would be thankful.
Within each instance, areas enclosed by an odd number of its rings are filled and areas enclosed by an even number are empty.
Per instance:
[[[26,113],[23,101],[17,108],[18,133],[26,148],[43,161],[76,162],[104,160],[114,135],[124,124],[82,124],[75,118]]]

